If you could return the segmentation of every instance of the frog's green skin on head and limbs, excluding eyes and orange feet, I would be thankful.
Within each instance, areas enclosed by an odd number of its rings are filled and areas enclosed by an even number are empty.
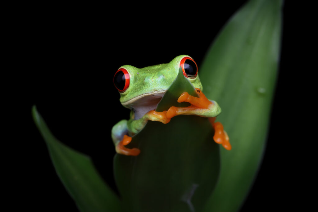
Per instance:
[[[124,65],[130,76],[129,87],[125,92],[120,93],[120,102],[124,107],[131,109],[130,119],[121,120],[112,128],[112,139],[115,146],[122,140],[125,134],[133,135],[138,133],[145,126],[149,117],[147,112],[155,110],[160,99],[167,91],[179,72],[180,61],[187,55],[180,55],[170,63],[136,68],[131,65]],[[202,85],[197,76],[194,79],[187,78],[195,88],[202,90]],[[209,109],[202,109],[193,112],[194,115],[204,117],[215,117],[221,113],[221,108],[215,101]]]

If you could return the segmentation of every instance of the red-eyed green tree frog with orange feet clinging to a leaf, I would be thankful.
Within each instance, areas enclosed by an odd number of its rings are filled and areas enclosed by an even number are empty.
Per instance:
[[[178,102],[188,102],[190,106],[171,106],[167,111],[157,112],[156,106],[169,86],[176,79],[179,69],[194,86],[198,97],[183,92]],[[111,130],[111,137],[118,154],[137,156],[141,150],[127,148],[132,136],[140,132],[146,123],[159,121],[168,124],[177,115],[197,115],[209,119],[214,128],[213,140],[226,150],[231,150],[229,136],[220,122],[215,122],[221,108],[214,100],[209,100],[202,92],[203,87],[198,76],[197,63],[188,55],[179,55],[167,64],[136,68],[121,66],[114,74],[114,85],[120,93],[121,105],[129,108],[130,119],[121,120]]]

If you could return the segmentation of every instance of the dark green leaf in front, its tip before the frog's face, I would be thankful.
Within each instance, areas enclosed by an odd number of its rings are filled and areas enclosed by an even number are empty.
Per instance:
[[[176,105],[184,91],[195,94],[179,75],[157,110]],[[219,173],[219,145],[206,118],[176,116],[168,124],[149,121],[129,148],[138,156],[116,154],[114,174],[126,211],[200,211],[213,191]]]

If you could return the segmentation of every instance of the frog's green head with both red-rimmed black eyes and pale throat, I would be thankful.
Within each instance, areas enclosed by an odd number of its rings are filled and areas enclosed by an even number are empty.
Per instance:
[[[115,87],[121,95],[121,104],[134,110],[135,119],[156,109],[162,96],[176,79],[180,67],[183,75],[192,85],[202,90],[197,74],[197,64],[187,55],[177,56],[167,64],[145,68],[136,68],[131,65],[121,66],[114,76]]]

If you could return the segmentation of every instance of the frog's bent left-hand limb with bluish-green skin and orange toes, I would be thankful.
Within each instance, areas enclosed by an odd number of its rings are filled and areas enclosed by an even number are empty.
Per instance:
[[[148,120],[160,121],[164,124],[169,123],[167,111],[156,112],[154,110],[146,113],[141,119],[134,120],[134,115],[130,120],[121,120],[112,129],[112,139],[118,154],[137,156],[140,154],[138,148],[126,148],[125,146],[131,142],[131,136],[138,133],[146,125]],[[129,136],[129,135],[131,136]]]

